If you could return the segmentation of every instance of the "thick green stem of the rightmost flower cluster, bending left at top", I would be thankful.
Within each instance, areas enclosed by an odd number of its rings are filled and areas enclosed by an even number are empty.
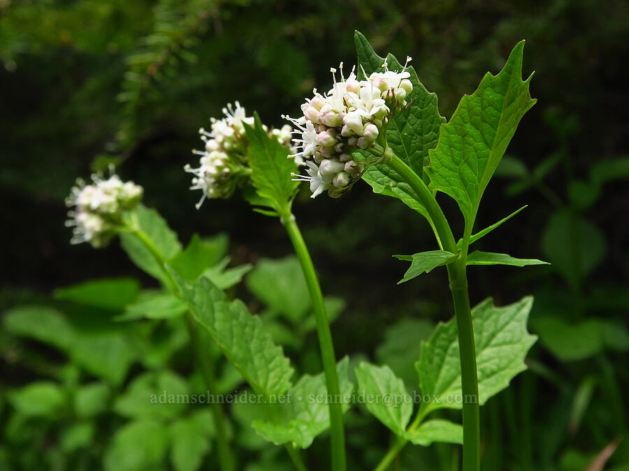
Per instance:
[[[424,204],[438,239],[444,250],[457,253],[456,241],[447,219],[437,200],[433,197],[426,183],[403,160],[391,151],[384,149],[382,163],[389,165],[400,174],[410,185],[419,200]],[[471,227],[469,228],[471,230]],[[466,227],[466,234],[468,227]],[[468,293],[466,262],[469,237],[463,240],[461,256],[447,265],[450,291],[454,301],[454,313],[458,327],[458,347],[461,357],[461,389],[463,392],[463,471],[479,471],[480,469],[480,418],[478,403],[478,375],[476,365],[476,348],[472,330],[472,310]],[[400,448],[401,449],[401,448]]]

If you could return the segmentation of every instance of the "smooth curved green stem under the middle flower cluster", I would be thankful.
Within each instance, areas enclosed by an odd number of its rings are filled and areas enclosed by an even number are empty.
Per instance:
[[[332,442],[332,470],[345,471],[345,432],[343,431],[343,411],[340,398],[340,387],[338,381],[338,373],[336,371],[336,357],[334,354],[334,346],[332,343],[332,334],[330,331],[330,323],[326,313],[323,294],[319,280],[315,273],[315,267],[312,264],[310,253],[306,247],[305,241],[301,235],[299,227],[295,222],[295,216],[288,214],[282,217],[282,223],[289,234],[295,253],[301,264],[303,275],[305,277],[310,298],[312,299],[312,307],[315,311],[315,321],[317,323],[317,334],[319,335],[319,347],[321,348],[321,361],[324,366],[326,376],[326,385],[328,394],[332,396],[332,401],[328,404],[330,410],[330,435]]]

